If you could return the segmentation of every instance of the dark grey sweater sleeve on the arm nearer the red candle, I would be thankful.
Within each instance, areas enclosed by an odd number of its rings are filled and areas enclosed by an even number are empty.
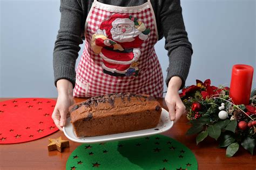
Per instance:
[[[188,41],[185,30],[180,0],[163,0],[160,9],[160,27],[165,37],[165,49],[168,51],[169,67],[167,69],[166,84],[173,76],[182,80],[180,89],[190,70],[192,45]]]

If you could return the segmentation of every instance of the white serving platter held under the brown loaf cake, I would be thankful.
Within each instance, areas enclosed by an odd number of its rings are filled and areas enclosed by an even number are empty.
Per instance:
[[[75,132],[73,131],[73,126],[70,123],[70,118],[68,118],[66,121],[66,126],[63,127],[63,132],[65,136],[72,141],[79,142],[79,143],[92,144],[97,142],[107,142],[107,141],[114,141],[114,140],[126,140],[126,139],[132,139],[132,138],[147,137],[150,135],[168,131],[172,126],[173,126],[173,121],[170,120],[169,113],[164,108],[162,108],[160,121],[157,127],[150,128],[147,130],[109,134],[109,135],[102,135],[97,137],[77,138],[75,135]]]

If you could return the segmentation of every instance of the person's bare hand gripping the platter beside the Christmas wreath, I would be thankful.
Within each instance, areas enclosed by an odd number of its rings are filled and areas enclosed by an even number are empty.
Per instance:
[[[174,123],[179,120],[182,114],[185,113],[185,106],[179,97],[179,89],[182,84],[182,80],[179,77],[172,77],[169,81],[167,93],[165,96],[165,103],[169,109],[170,119],[174,120]]]

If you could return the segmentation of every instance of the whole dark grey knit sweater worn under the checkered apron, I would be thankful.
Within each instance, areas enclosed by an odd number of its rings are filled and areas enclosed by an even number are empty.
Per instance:
[[[117,6],[137,6],[147,0],[98,0],[101,3]],[[55,85],[59,79],[68,79],[75,86],[75,64],[83,43],[81,35],[93,0],[60,0],[60,28],[53,51],[53,70]],[[181,13],[180,0],[151,0],[156,15],[159,40],[165,37],[165,49],[168,51],[169,67],[166,84],[173,76],[183,81],[190,70],[192,46]]]

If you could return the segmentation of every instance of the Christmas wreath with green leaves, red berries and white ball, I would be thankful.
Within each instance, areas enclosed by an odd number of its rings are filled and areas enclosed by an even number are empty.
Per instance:
[[[197,134],[197,144],[206,137],[218,140],[219,147],[227,147],[226,156],[232,157],[244,147],[253,155],[256,139],[256,90],[251,93],[249,105],[235,105],[228,87],[212,86],[196,80],[180,93],[192,124],[187,134]]]

